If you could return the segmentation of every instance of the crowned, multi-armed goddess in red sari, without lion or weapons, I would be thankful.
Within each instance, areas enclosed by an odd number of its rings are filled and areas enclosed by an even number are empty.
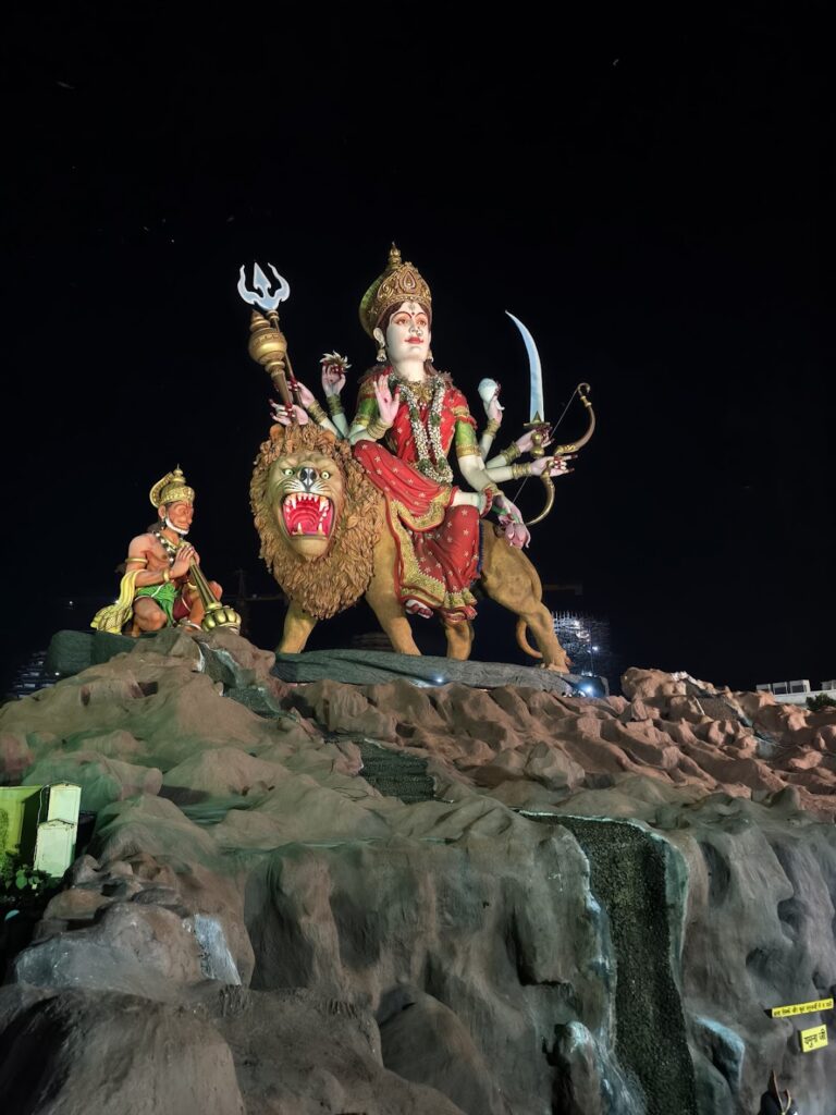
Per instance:
[[[360,380],[350,425],[340,403],[347,366],[338,353],[327,353],[322,361],[331,417],[298,380],[292,386],[301,405],[297,404],[293,417],[305,423],[310,415],[337,437],[347,437],[354,458],[383,495],[396,542],[396,586],[405,610],[425,618],[437,612],[445,623],[472,620],[479,520],[493,511],[509,545],[525,546],[529,541],[523,516],[497,482],[563,475],[567,457],[512,464],[532,448],[528,433],[485,463],[502,421],[498,388],[492,380],[480,385],[488,421],[477,438],[465,396],[434,365],[429,287],[395,245],[387,269],[362,298],[360,321],[378,346],[377,363]],[[278,405],[275,417],[284,424],[292,420],[288,408]],[[448,460],[453,448],[469,491],[454,483]]]

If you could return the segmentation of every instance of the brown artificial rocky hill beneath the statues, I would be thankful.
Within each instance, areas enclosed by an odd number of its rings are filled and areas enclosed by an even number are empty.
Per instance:
[[[834,1012],[766,1014],[836,985],[836,710],[273,671],[168,631],[0,709],[0,779],[96,814],[4,1111],[748,1115],[775,1068],[836,1112]]]

